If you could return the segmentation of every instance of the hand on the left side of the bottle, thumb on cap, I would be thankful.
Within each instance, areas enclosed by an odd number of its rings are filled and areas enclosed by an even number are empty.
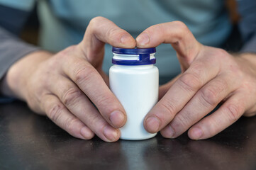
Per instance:
[[[56,55],[34,52],[13,64],[4,80],[4,92],[23,99],[36,113],[46,113],[74,137],[88,140],[96,134],[104,141],[116,141],[126,112],[101,70],[105,42],[135,47],[129,33],[96,17],[78,45]]]

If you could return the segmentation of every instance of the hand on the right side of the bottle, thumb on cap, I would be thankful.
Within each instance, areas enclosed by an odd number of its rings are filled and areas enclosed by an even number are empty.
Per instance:
[[[160,87],[161,99],[144,121],[148,132],[161,130],[163,137],[174,138],[190,128],[191,139],[206,139],[241,115],[255,115],[255,55],[233,57],[224,50],[201,45],[179,21],[151,26],[136,38],[138,47],[161,43],[174,47],[182,74]],[[221,102],[216,112],[206,116]]]

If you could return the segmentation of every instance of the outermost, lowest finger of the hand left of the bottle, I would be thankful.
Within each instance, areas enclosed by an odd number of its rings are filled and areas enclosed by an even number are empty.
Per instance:
[[[56,96],[45,95],[42,103],[42,108],[48,118],[70,135],[84,140],[94,137],[94,132],[72,115]]]

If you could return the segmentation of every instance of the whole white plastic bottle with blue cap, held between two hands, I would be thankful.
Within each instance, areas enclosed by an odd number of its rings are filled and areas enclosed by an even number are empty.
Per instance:
[[[145,115],[158,100],[158,69],[154,48],[125,49],[113,47],[114,64],[109,70],[111,91],[126,110],[127,122],[121,130],[123,140],[145,140],[154,137],[145,130]]]

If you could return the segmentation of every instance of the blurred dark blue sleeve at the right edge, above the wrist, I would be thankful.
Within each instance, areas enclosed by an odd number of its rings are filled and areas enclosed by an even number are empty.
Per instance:
[[[239,28],[243,38],[243,47],[240,52],[256,53],[256,1],[237,0],[240,13]]]

